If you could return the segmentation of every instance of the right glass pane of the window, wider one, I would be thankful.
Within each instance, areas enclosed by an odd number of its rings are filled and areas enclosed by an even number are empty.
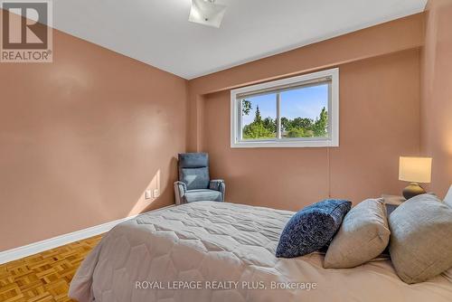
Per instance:
[[[328,83],[280,94],[281,137],[328,137]]]

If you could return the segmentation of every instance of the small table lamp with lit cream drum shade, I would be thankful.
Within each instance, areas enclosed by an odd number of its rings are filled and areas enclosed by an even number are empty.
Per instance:
[[[429,184],[431,181],[431,158],[400,156],[399,180],[410,182],[403,189],[403,197],[407,200],[416,195],[426,193],[419,183]]]

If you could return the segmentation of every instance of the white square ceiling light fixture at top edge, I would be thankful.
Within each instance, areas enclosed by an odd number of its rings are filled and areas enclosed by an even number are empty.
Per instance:
[[[215,0],[192,0],[188,21],[219,28],[226,5],[216,5]]]

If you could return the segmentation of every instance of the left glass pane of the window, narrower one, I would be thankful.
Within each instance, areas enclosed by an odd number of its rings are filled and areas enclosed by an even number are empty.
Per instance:
[[[241,99],[241,125],[243,140],[276,138],[276,93]]]

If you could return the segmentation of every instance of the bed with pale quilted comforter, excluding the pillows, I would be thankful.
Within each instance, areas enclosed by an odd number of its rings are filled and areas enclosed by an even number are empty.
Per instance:
[[[187,203],[109,231],[72,279],[86,301],[452,301],[452,270],[403,283],[390,260],[323,269],[312,253],[278,259],[294,212],[234,203]]]

